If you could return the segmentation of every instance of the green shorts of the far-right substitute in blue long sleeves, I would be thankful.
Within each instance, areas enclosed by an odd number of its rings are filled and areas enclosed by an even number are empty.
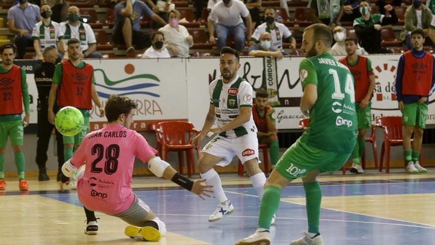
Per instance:
[[[428,119],[428,105],[426,103],[419,104],[418,102],[403,104],[402,124],[406,126],[418,126],[422,129],[426,128],[426,120]]]

